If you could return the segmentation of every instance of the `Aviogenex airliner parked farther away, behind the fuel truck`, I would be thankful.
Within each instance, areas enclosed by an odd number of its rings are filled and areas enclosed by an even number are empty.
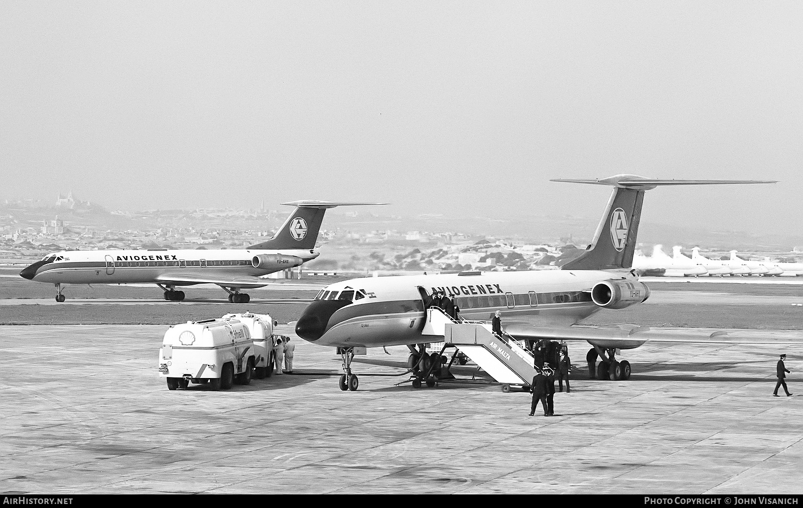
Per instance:
[[[387,203],[332,203],[302,200],[279,231],[261,244],[244,249],[150,249],[53,252],[24,268],[21,277],[55,285],[56,301],[64,301],[63,285],[153,283],[165,291],[165,300],[184,300],[179,286],[216,284],[229,301],[247,303],[242,289],[261,288],[269,273],[314,260],[320,224],[327,208]]]

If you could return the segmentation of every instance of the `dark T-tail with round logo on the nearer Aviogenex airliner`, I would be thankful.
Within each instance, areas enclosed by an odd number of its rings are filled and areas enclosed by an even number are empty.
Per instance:
[[[580,256],[560,267],[563,270],[612,270],[631,268],[642,215],[644,191],[671,185],[728,185],[732,183],[776,183],[776,180],[674,180],[617,174],[602,179],[556,178],[550,182],[590,183],[613,186],[605,215],[594,240]]]

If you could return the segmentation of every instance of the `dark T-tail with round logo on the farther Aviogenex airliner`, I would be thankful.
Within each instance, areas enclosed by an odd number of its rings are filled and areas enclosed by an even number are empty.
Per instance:
[[[332,203],[331,201],[313,201],[304,199],[282,203],[295,206],[296,210],[287,217],[279,231],[261,244],[251,245],[253,249],[309,249],[315,248],[318,240],[320,224],[324,221],[327,208],[357,206],[357,205],[386,205],[388,203]]]

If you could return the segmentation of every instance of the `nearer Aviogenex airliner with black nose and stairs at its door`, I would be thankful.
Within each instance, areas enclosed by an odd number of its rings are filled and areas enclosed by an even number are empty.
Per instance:
[[[605,375],[615,373],[617,379],[630,376],[630,364],[626,361],[620,364],[614,356],[618,349],[632,349],[648,341],[748,342],[728,337],[724,331],[704,337],[679,337],[638,326],[572,325],[600,309],[625,309],[650,296],[650,289],[638,281],[636,270],[631,268],[646,190],[656,186],[772,182],[659,180],[630,174],[601,180],[553,181],[614,187],[593,243],[560,270],[342,281],[321,290],[304,309],[296,323],[296,334],[321,346],[340,348],[344,367],[341,390],[347,386],[357,389],[356,375],[350,369],[355,347],[407,345],[412,357],[417,354],[415,345],[423,350],[423,342],[433,342],[433,336],[422,335],[422,330],[426,325],[425,299],[436,289],[454,296],[464,319],[487,320],[496,310],[501,311],[504,332],[516,339],[587,341],[593,346],[589,358],[596,362],[597,355],[601,357],[597,371]],[[414,364],[414,358],[410,359]]]

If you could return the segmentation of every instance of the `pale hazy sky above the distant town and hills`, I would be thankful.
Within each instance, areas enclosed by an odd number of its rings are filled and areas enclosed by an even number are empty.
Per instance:
[[[0,199],[801,230],[801,2],[0,1]]]

